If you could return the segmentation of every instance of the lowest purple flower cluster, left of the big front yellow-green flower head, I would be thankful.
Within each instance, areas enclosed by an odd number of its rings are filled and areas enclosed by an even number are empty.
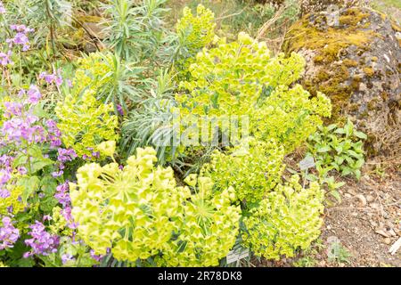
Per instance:
[[[31,251],[26,252],[24,257],[32,255],[48,256],[57,251],[59,246],[59,237],[46,232],[44,224],[36,221],[35,224],[29,225],[29,228],[31,231],[28,233],[32,239],[25,240],[25,244],[32,249]]]

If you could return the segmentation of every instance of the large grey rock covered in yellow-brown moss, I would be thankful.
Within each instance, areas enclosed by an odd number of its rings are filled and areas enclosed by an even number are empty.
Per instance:
[[[331,120],[352,118],[370,137],[369,152],[401,150],[401,50],[397,26],[368,8],[340,10],[339,25],[325,13],[308,14],[291,27],[287,53],[307,59],[302,84],[327,94]]]

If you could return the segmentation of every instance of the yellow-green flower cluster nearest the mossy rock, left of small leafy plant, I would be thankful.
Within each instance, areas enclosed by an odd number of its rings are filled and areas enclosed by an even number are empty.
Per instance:
[[[250,131],[259,140],[281,142],[286,153],[293,151],[331,116],[330,99],[321,93],[310,99],[301,85],[280,85],[250,117]]]

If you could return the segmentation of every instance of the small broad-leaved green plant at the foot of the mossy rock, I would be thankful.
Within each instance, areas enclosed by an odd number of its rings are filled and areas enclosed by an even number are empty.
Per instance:
[[[361,177],[364,165],[364,140],[366,134],[355,129],[350,120],[343,127],[319,126],[318,132],[307,140],[307,148],[316,159],[316,169],[321,177],[335,169],[341,175]]]

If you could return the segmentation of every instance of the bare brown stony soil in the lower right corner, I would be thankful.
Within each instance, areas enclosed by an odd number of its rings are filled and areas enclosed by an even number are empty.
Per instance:
[[[300,266],[297,261],[307,257],[309,266],[401,267],[401,248],[394,256],[389,253],[389,248],[401,238],[401,171],[399,167],[382,171],[377,166],[375,161],[368,161],[359,182],[342,179],[347,184],[340,188],[341,202],[326,206],[322,235],[312,250],[280,262],[253,260],[252,264]],[[329,260],[331,240],[340,240],[348,250],[348,262]]]

